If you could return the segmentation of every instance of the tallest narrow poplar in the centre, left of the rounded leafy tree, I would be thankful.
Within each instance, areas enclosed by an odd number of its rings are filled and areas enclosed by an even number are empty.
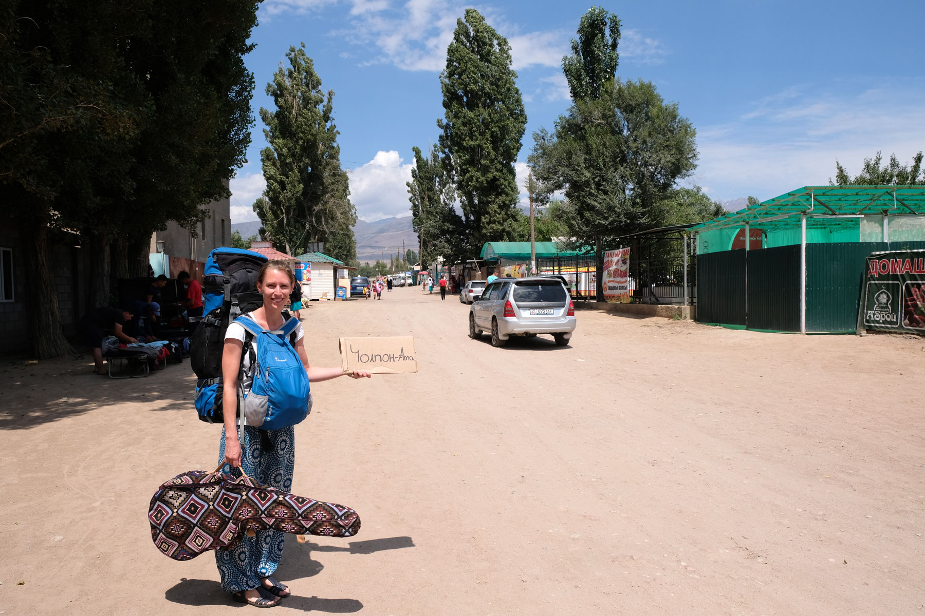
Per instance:
[[[474,8],[456,22],[440,73],[443,163],[462,204],[470,254],[512,239],[520,189],[513,163],[526,127],[511,45]]]

